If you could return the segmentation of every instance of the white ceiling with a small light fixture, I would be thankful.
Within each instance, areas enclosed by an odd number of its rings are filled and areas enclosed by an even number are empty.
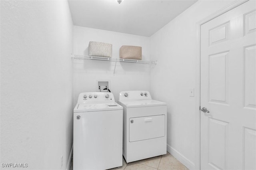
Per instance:
[[[73,23],[151,36],[197,0],[68,0]]]

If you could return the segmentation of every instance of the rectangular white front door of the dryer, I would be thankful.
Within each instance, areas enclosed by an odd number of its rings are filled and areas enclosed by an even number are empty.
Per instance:
[[[129,141],[159,138],[165,135],[165,115],[134,117],[129,120]]]

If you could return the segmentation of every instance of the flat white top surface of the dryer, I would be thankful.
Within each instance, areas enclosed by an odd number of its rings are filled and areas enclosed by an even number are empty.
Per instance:
[[[126,108],[166,106],[166,103],[161,101],[156,101],[156,100],[126,100],[126,101],[118,101],[118,103]]]

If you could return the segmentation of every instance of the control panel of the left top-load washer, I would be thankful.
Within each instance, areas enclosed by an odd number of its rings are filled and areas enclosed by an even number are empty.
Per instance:
[[[85,92],[80,93],[78,97],[78,103],[93,101],[115,101],[113,93],[109,92]]]

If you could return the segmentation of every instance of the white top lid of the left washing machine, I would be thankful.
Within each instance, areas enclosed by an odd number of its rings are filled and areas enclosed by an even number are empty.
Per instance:
[[[78,103],[74,109],[75,112],[92,112],[92,111],[112,111],[122,110],[123,107],[118,105],[116,102],[108,103]]]

